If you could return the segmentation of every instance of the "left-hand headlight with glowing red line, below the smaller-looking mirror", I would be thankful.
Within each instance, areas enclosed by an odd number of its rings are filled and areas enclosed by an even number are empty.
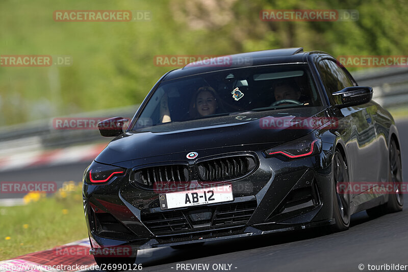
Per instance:
[[[87,170],[85,170],[85,182],[90,184],[105,183],[112,179],[112,177],[124,174],[125,169],[93,162]]]

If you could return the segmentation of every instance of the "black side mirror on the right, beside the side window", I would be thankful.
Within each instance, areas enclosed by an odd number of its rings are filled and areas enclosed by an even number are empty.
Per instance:
[[[373,88],[366,86],[346,87],[331,94],[338,108],[346,108],[365,104],[373,97]]]

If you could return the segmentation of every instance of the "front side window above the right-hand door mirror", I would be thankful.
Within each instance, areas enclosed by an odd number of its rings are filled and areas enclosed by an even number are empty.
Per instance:
[[[353,86],[353,82],[347,73],[334,61],[321,60],[318,63],[318,69],[330,103],[333,103],[332,93]]]

